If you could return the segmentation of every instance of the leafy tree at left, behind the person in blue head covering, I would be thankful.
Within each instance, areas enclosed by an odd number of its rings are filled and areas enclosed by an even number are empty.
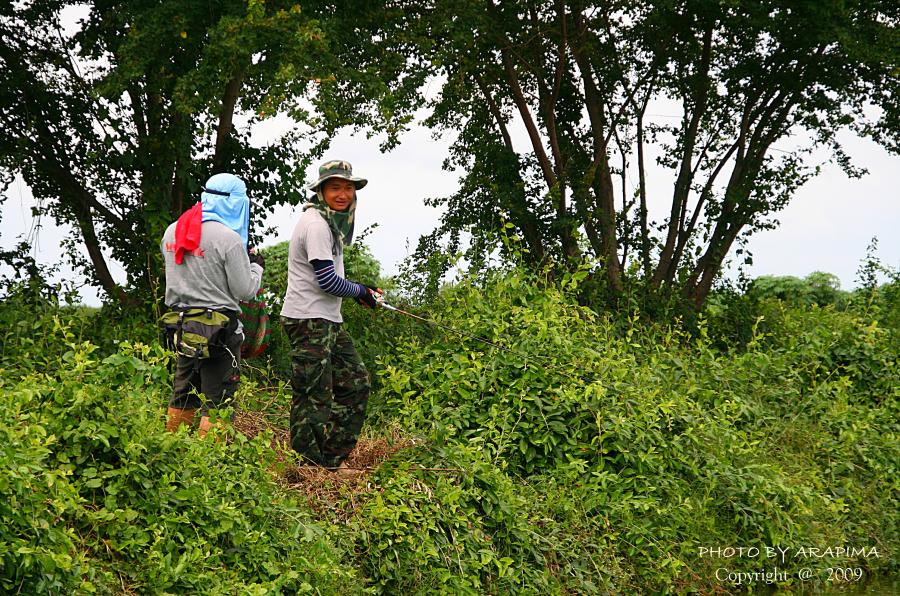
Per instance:
[[[68,242],[89,255],[70,251],[74,265],[111,297],[155,286],[163,230],[212,173],[239,173],[256,209],[296,204],[334,130],[371,125],[390,142],[408,120],[383,109],[416,79],[372,49],[364,29],[385,14],[377,4],[96,0],[66,35],[63,11],[79,4],[0,8],[0,173],[6,183],[20,173],[42,209],[72,225]],[[278,113],[294,127],[252,144],[250,127]]]

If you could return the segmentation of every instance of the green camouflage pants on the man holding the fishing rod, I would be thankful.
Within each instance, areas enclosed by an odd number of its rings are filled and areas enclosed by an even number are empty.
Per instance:
[[[335,467],[359,439],[369,401],[369,374],[340,323],[282,318],[291,341],[291,447]]]

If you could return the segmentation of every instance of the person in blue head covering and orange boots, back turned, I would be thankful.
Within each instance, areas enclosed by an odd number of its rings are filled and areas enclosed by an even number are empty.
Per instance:
[[[222,173],[163,235],[165,302],[172,309],[163,321],[178,352],[168,431],[190,425],[200,409],[205,436],[210,409],[224,409],[234,398],[243,341],[239,301],[256,296],[265,265],[262,255],[247,250],[249,228],[247,187]]]

